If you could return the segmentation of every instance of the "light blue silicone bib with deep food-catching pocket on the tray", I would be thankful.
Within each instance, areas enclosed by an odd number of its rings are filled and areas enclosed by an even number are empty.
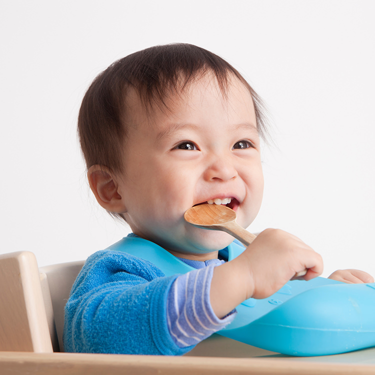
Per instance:
[[[122,238],[108,249],[148,260],[166,276],[194,269],[138,237]],[[232,242],[228,260],[243,250]],[[270,297],[246,299],[236,309],[234,321],[217,333],[263,349],[312,356],[375,346],[375,283],[293,280]]]

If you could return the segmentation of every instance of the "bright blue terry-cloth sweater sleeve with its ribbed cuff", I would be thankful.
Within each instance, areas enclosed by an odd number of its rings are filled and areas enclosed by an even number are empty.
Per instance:
[[[64,349],[70,352],[178,355],[166,322],[166,299],[177,275],[121,251],[86,260],[65,306]]]

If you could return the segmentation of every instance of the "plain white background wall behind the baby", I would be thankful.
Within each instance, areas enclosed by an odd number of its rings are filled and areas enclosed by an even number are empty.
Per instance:
[[[0,253],[78,260],[128,232],[87,186],[80,101],[115,59],[189,42],[239,69],[272,115],[249,229],[299,236],[325,276],[375,275],[374,19],[372,0],[1,1]]]

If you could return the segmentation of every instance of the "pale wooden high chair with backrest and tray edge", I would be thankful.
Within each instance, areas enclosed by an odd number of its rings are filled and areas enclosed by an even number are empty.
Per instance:
[[[32,252],[0,254],[1,375],[375,373],[375,348],[288,357],[219,335],[184,356],[64,353],[63,308],[83,263],[39,269]]]

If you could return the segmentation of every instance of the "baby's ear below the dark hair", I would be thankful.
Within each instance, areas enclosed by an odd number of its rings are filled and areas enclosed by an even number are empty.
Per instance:
[[[87,178],[96,200],[103,208],[110,212],[126,212],[115,175],[109,168],[92,165],[88,168]]]

